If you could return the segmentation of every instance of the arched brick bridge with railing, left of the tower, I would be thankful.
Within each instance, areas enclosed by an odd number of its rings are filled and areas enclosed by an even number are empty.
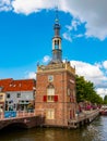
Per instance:
[[[0,129],[10,125],[32,128],[44,124],[44,117],[35,116],[35,112],[2,112],[0,113]]]

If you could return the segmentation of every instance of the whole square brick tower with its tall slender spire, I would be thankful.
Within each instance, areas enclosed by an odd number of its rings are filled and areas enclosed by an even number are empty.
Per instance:
[[[68,127],[75,118],[75,68],[62,62],[60,24],[56,12],[52,59],[37,66],[36,115],[45,116],[45,126]]]

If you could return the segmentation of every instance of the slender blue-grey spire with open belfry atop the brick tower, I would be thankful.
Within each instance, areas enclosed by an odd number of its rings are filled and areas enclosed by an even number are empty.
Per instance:
[[[56,9],[56,18],[55,18],[55,36],[52,38],[52,60],[50,63],[61,63],[62,62],[62,50],[61,50],[61,37],[60,37],[61,26],[58,18],[58,9]]]

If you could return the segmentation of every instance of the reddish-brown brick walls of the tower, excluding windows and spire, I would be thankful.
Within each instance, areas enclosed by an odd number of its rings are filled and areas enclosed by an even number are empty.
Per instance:
[[[58,95],[57,102],[44,102],[44,95],[47,94],[47,87],[49,86],[48,75],[54,75],[51,85],[55,87],[55,94]],[[75,89],[74,84],[70,82],[74,79],[67,70],[51,72],[37,74],[36,81],[36,115],[45,115],[46,110],[55,108],[55,119],[46,119],[46,125],[67,126],[70,117],[70,108],[74,108],[74,102],[68,103],[68,88]]]

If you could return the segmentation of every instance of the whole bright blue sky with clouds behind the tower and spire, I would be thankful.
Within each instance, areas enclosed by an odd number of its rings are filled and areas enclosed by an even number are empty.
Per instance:
[[[107,94],[106,0],[0,0],[0,79],[35,78],[51,57],[55,8],[59,8],[62,56],[76,74]]]

